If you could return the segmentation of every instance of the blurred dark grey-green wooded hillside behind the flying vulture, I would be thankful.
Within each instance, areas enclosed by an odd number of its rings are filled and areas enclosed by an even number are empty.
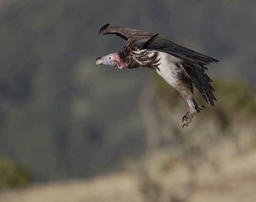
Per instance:
[[[221,139],[234,131],[239,137],[241,124],[251,137],[255,6],[253,1],[199,0],[24,0],[3,6],[0,155],[28,166],[36,181],[49,181],[119,170],[123,159],[172,146],[178,134],[193,142],[189,134],[198,125],[204,131],[199,137]],[[95,67],[95,58],[118,52],[125,43],[116,36],[98,36],[108,22],[159,33],[220,60],[209,66],[210,76],[220,80],[214,82],[220,105],[207,107],[181,134],[186,103],[151,75],[155,72]],[[245,84],[234,85],[237,78]]]

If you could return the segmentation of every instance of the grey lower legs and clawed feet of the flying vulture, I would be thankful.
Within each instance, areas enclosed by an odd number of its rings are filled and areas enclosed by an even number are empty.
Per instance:
[[[182,128],[188,126],[188,124],[192,121],[194,114],[201,113],[200,110],[203,110],[203,108],[205,108],[205,106],[203,105],[197,105],[194,98],[192,100],[187,100],[187,102],[189,106],[189,111],[185,114],[185,116],[182,117],[182,122],[186,121],[186,123],[182,125]]]

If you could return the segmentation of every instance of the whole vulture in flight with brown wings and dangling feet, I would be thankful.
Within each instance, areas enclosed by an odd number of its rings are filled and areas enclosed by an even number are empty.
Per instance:
[[[99,30],[99,35],[114,34],[126,40],[119,53],[111,53],[97,58],[100,64],[123,68],[142,68],[155,70],[181,96],[187,100],[189,111],[182,117],[183,125],[188,126],[193,115],[200,113],[205,106],[198,105],[193,97],[194,86],[202,94],[206,103],[214,105],[212,79],[205,73],[205,65],[218,60],[197,53],[189,48],[174,44],[157,34],[133,28],[109,27],[109,23]]]

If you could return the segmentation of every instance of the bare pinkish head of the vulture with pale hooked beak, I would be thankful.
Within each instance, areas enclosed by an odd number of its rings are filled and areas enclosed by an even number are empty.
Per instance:
[[[95,61],[95,65],[106,64],[110,66],[117,66],[118,69],[123,69],[126,64],[122,62],[119,54],[111,53],[105,56],[98,57]]]

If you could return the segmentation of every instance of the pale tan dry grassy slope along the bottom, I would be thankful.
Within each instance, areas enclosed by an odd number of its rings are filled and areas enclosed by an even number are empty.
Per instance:
[[[163,158],[163,155],[158,153],[152,157],[155,161],[157,158]],[[161,182],[158,184],[158,192],[154,192],[154,183],[142,186],[137,175],[126,171],[99,175],[90,180],[50,182],[37,184],[25,190],[2,191],[0,201],[254,202],[256,162],[251,160],[255,158],[255,150],[246,155],[225,156],[218,169],[214,169],[210,164],[201,164],[198,172],[192,174],[183,164],[175,163],[171,170],[157,173],[157,178]],[[147,195],[151,198],[143,194],[147,190],[151,191],[151,195]],[[156,200],[154,193],[158,193]]]

